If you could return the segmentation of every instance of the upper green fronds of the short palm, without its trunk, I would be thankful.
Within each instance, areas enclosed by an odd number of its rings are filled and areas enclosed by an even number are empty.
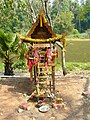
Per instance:
[[[0,49],[4,52],[17,52],[18,39],[16,35],[13,33],[4,33],[4,31],[0,29]]]

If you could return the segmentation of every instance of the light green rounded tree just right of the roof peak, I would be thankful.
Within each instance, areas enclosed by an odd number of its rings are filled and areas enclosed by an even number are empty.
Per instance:
[[[72,23],[74,15],[72,11],[70,11],[70,4],[67,0],[54,0],[51,18],[53,21],[53,29],[56,33],[69,33],[74,28]]]

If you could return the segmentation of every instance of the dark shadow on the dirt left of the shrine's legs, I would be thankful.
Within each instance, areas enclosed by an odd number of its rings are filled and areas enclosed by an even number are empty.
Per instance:
[[[30,95],[34,89],[34,84],[30,82],[29,78],[2,78],[0,79],[1,85],[9,86],[8,91],[13,93],[26,93]]]

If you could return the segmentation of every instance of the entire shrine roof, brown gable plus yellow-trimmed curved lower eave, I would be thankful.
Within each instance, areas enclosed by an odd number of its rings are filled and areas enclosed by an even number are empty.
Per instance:
[[[65,35],[56,36],[42,13],[39,13],[36,22],[26,36],[18,36],[19,40],[28,43],[65,42]]]

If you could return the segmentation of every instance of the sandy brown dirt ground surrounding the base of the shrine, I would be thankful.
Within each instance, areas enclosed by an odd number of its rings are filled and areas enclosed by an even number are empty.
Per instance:
[[[90,120],[90,99],[81,95],[90,91],[90,72],[56,76],[56,91],[66,109],[51,108],[47,113],[41,113],[32,103],[29,111],[18,113],[18,106],[27,101],[32,86],[29,78],[0,78],[0,120]]]

